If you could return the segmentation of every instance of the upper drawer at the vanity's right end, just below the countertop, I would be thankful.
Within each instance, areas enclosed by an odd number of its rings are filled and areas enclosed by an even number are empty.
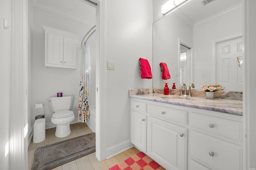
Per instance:
[[[240,122],[192,112],[189,115],[189,123],[193,127],[242,141],[242,123]]]

